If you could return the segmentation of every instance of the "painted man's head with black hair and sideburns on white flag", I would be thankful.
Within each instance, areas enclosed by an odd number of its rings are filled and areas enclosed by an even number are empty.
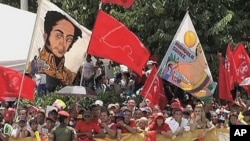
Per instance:
[[[82,31],[65,15],[48,11],[44,19],[45,46],[56,57],[62,58],[74,42],[82,37]]]

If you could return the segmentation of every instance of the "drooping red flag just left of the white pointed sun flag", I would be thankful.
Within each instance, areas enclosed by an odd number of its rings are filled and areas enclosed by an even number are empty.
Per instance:
[[[165,95],[163,81],[156,74],[157,68],[154,67],[147,78],[141,95],[150,101],[150,106],[159,105],[161,109],[164,109],[167,105],[167,97]]]

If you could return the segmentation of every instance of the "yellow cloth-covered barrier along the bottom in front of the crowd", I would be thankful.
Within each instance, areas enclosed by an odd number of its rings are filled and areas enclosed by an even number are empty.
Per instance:
[[[204,134],[203,129],[186,132],[181,136],[177,136],[175,139],[166,138],[163,135],[157,135],[157,141],[195,141],[199,140],[199,137]],[[96,141],[117,141],[115,138],[106,136],[105,138],[95,138]],[[122,141],[145,141],[146,136],[144,133],[122,134]],[[208,132],[202,141],[229,141],[229,129],[214,129]],[[22,138],[22,139],[9,139],[9,141],[37,141],[36,138]]]

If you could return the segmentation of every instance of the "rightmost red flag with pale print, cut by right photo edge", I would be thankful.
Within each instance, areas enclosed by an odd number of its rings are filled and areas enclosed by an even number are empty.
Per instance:
[[[241,83],[245,78],[250,77],[250,57],[242,43],[238,44],[237,48],[233,52],[237,82]],[[250,93],[249,86],[243,86],[243,88]]]

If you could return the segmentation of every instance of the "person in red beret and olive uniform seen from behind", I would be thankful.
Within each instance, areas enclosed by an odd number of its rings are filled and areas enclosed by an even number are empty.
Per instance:
[[[68,126],[69,113],[61,110],[58,112],[58,120],[60,125],[53,129],[52,134],[49,136],[52,141],[76,141],[75,129]]]

